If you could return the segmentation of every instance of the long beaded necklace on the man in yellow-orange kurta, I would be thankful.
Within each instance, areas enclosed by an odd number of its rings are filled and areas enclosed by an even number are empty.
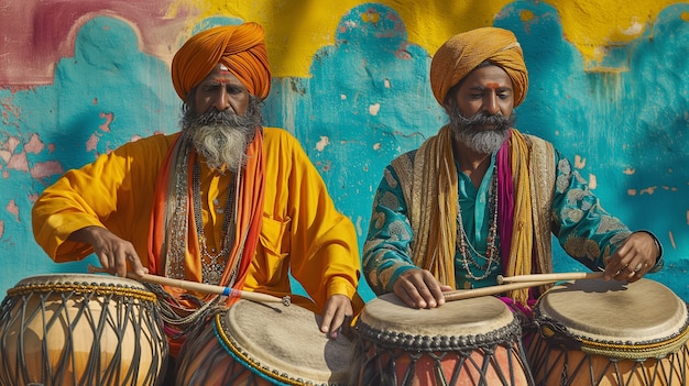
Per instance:
[[[239,173],[237,173],[237,178],[239,178]],[[219,284],[222,273],[225,272],[228,254],[234,243],[234,198],[237,184],[230,183],[230,187],[228,189],[225,209],[222,210],[222,250],[217,254],[210,254],[208,252],[208,247],[206,246],[206,235],[204,233],[204,221],[201,214],[200,167],[198,162],[194,163],[192,184],[192,195],[194,196],[194,221],[196,223],[196,232],[198,235],[201,258],[205,260],[201,262],[203,279],[206,284]],[[234,275],[234,273],[236,271],[233,269],[232,274]],[[231,280],[233,282],[233,279]]]

